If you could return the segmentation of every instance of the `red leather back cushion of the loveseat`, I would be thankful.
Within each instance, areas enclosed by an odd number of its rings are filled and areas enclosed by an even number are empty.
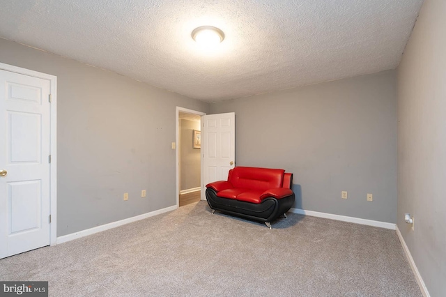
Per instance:
[[[266,191],[282,188],[284,173],[284,169],[235,167],[229,173],[228,181],[234,188]]]

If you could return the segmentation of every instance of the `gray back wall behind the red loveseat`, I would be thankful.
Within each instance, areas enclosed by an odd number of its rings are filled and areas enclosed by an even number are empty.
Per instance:
[[[236,112],[238,166],[294,174],[294,207],[396,222],[395,84],[388,71],[219,102],[210,114]]]

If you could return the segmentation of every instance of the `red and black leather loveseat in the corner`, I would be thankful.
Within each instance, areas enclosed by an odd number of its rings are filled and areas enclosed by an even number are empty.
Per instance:
[[[293,206],[292,185],[293,174],[283,169],[235,167],[227,181],[206,185],[206,199],[213,213],[259,220],[271,228],[271,222]]]

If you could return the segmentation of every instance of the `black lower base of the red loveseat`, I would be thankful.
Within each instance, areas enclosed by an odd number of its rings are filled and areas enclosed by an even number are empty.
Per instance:
[[[238,201],[235,199],[218,197],[212,188],[206,189],[206,200],[209,207],[216,210],[260,222],[272,222],[283,215],[294,204],[295,195],[282,199],[268,197],[260,204]],[[267,224],[268,225],[268,224]]]

